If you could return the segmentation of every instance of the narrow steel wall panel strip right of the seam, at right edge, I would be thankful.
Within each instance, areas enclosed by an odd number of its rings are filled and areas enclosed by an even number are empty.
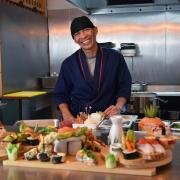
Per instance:
[[[180,11],[166,13],[166,78],[180,84]]]

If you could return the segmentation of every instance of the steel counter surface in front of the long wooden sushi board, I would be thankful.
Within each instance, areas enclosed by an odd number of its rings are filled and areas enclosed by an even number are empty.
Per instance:
[[[0,165],[0,179],[2,180],[178,180],[180,176],[180,141],[173,150],[173,162],[164,167],[157,169],[157,175],[153,177],[146,176],[133,176],[133,175],[115,175],[115,174],[104,174],[104,173],[90,173],[80,171],[65,171],[65,170],[53,170],[53,169],[37,169],[37,168],[22,168],[22,167],[3,167]]]

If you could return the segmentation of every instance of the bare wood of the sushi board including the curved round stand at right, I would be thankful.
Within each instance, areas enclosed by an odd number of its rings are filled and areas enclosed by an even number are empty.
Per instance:
[[[172,161],[172,150],[166,150],[166,156],[160,160],[146,161],[139,157],[136,159],[125,159],[120,154],[120,165],[113,169],[108,169],[105,166],[105,157],[109,152],[109,147],[101,147],[101,152],[96,153],[98,157],[97,165],[88,165],[83,162],[77,161],[76,156],[66,156],[66,161],[60,164],[52,164],[51,162],[41,162],[38,160],[27,161],[23,156],[20,156],[16,161],[4,160],[3,166],[16,166],[16,167],[31,167],[31,168],[50,168],[59,170],[73,170],[73,171],[85,171],[85,172],[101,172],[101,173],[113,173],[113,174],[128,174],[139,176],[154,176],[156,174],[157,167],[169,164]]]

